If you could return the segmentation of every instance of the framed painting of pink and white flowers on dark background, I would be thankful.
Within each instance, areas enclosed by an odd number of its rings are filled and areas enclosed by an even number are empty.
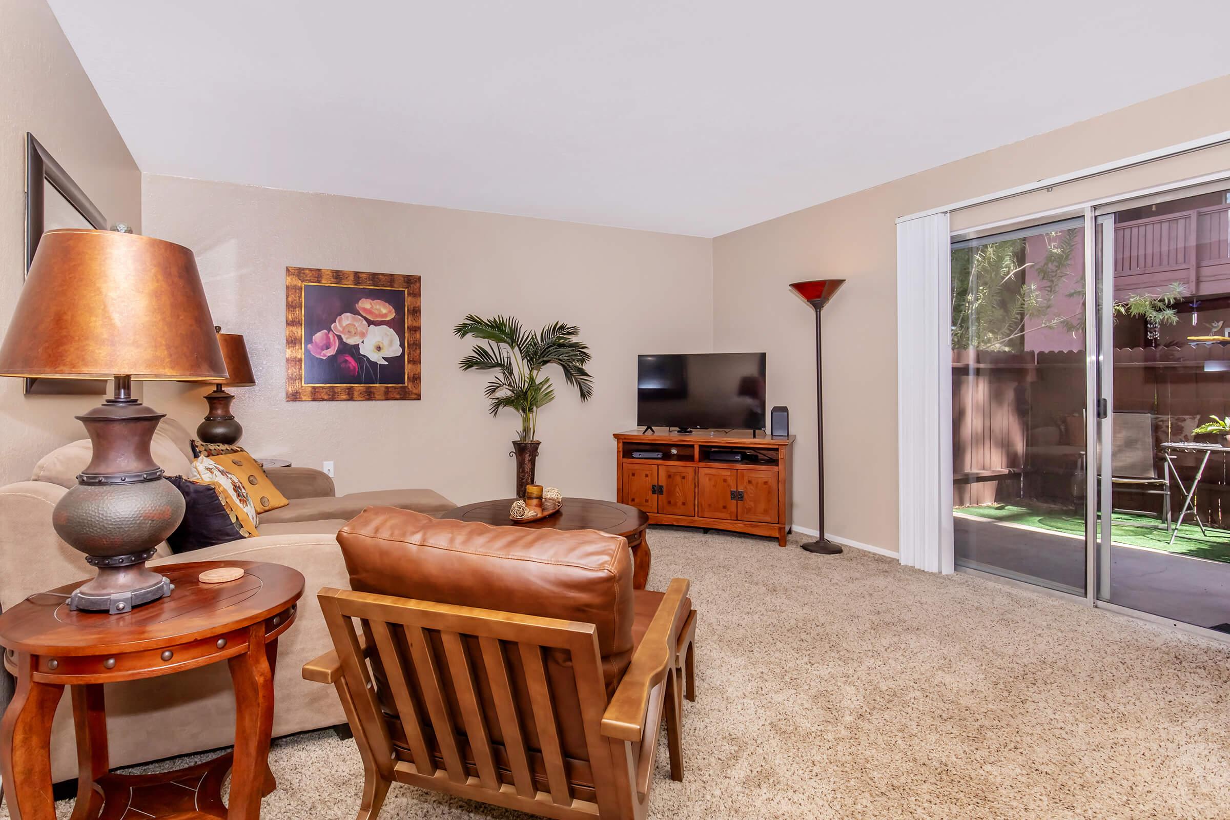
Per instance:
[[[418,277],[287,268],[287,400],[419,398]]]

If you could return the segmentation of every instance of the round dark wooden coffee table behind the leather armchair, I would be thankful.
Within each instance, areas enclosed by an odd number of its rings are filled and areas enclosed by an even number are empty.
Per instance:
[[[621,535],[627,538],[627,546],[632,548],[632,588],[645,589],[649,580],[649,545],[645,540],[645,527],[649,526],[649,516],[627,504],[615,502],[600,502],[594,498],[565,498],[563,509],[556,515],[551,515],[538,521],[518,524],[508,518],[508,508],[513,505],[513,498],[502,498],[496,502],[478,502],[466,504],[448,513],[440,514],[442,519],[455,519],[458,521],[478,521],[492,526],[524,526],[531,529],[551,530],[600,530],[611,535]]]

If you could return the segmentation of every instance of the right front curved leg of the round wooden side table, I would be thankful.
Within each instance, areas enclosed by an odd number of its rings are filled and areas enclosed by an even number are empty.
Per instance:
[[[264,622],[248,628],[247,652],[229,663],[235,686],[235,761],[226,816],[258,820],[273,731],[273,670],[266,654]]]

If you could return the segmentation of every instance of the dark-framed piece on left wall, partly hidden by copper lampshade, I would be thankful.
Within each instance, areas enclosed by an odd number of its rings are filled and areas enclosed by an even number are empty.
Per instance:
[[[26,268],[34,261],[38,240],[58,227],[107,230],[107,218],[81,191],[34,135],[26,132]],[[25,379],[26,395],[102,396],[106,379]]]

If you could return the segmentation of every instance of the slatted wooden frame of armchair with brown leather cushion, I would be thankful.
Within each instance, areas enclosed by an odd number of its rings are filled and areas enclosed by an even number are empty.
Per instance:
[[[321,590],[335,652],[303,674],[337,688],[354,731],[359,820],[394,781],[560,820],[643,819],[664,709],[681,704],[688,588],[670,581],[610,692],[594,625]],[[561,728],[578,725],[584,754],[566,754]]]

